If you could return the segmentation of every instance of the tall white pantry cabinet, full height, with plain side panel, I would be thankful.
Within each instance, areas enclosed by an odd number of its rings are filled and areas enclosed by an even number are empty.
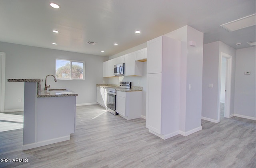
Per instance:
[[[146,128],[166,139],[179,134],[180,42],[160,36],[147,50]]]

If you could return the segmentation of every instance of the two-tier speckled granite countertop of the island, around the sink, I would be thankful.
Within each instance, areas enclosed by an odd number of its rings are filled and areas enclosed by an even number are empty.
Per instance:
[[[7,79],[8,82],[36,82],[37,83],[37,97],[38,98],[46,98],[46,97],[64,97],[64,96],[78,96],[77,93],[73,92],[70,89],[66,89],[65,91],[49,91],[47,90],[40,90],[40,79]],[[50,88],[50,89],[57,89],[57,88]]]

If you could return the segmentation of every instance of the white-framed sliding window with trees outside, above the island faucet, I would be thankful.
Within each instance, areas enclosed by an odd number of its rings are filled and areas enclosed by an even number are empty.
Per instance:
[[[84,80],[84,62],[56,59],[55,76],[64,80]]]

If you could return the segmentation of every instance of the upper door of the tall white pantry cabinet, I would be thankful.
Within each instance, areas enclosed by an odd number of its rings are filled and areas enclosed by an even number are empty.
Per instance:
[[[162,73],[162,36],[147,42],[147,74]]]

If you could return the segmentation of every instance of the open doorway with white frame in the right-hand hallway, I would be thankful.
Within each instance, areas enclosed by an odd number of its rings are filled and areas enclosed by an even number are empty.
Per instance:
[[[221,53],[219,81],[219,121],[230,118],[232,56]]]

